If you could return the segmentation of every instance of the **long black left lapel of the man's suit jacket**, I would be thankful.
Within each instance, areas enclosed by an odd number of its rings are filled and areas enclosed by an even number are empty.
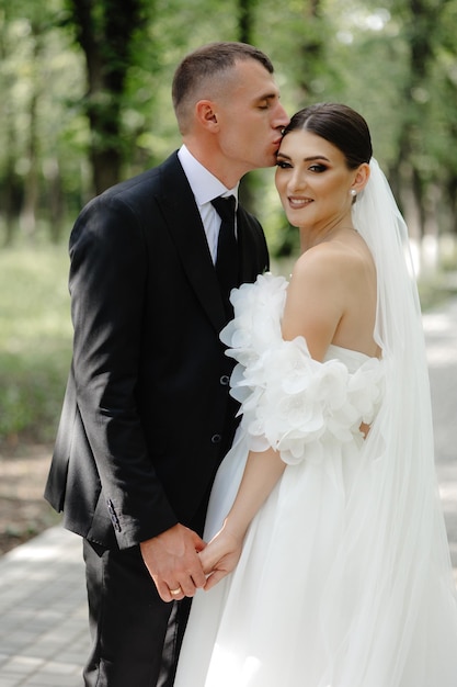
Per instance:
[[[158,202],[187,279],[216,331],[226,324],[219,283],[209,254],[202,218],[176,154],[160,168]]]

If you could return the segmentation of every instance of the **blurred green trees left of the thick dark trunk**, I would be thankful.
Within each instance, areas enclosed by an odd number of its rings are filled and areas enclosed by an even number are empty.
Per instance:
[[[64,196],[70,202],[83,185],[81,159],[68,137],[78,121],[80,69],[58,27],[60,12],[60,0],[45,7],[0,0],[0,221],[7,244],[19,230],[37,239],[44,221],[58,240]]]

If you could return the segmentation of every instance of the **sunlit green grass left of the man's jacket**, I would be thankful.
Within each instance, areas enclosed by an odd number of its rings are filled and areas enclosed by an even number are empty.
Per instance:
[[[71,357],[66,246],[0,250],[0,446],[53,441]]]

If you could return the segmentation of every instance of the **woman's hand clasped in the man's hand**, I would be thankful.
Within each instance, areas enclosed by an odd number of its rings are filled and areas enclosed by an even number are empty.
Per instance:
[[[242,549],[242,539],[229,532],[225,527],[198,553],[203,571],[207,575],[204,589],[212,589],[236,567]]]

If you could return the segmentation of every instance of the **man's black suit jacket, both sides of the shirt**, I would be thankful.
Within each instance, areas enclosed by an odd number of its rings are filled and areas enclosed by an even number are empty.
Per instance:
[[[254,281],[267,249],[241,207],[238,236]],[[91,201],[70,258],[73,359],[45,496],[68,529],[125,549],[191,522],[236,427],[226,315],[176,154]]]

